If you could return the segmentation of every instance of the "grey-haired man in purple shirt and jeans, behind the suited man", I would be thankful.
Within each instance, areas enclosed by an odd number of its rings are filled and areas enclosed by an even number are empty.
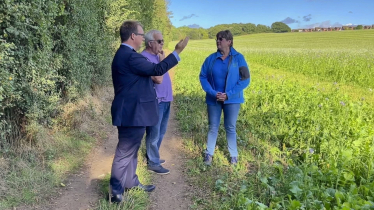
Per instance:
[[[145,34],[144,38],[145,50],[141,54],[152,63],[157,64],[162,61],[165,58],[162,50],[164,46],[162,33],[158,30],[151,30]],[[168,125],[173,90],[168,72],[162,76],[152,76],[152,80],[158,99],[159,120],[157,125],[146,127],[147,168],[157,174],[169,174],[170,171],[161,166],[165,160],[160,159],[159,150]]]

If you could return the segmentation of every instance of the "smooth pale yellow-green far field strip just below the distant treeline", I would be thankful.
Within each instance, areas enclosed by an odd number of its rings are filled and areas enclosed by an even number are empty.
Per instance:
[[[267,33],[234,37],[234,47],[239,51],[249,49],[337,49],[347,52],[372,50],[374,30],[332,31],[313,33]],[[191,44],[193,43],[193,44]],[[175,46],[175,42],[169,44]],[[193,40],[187,49],[214,51],[215,41]]]

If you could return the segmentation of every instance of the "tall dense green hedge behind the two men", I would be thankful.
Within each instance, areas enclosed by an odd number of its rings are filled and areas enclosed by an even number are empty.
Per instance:
[[[167,43],[169,15],[165,0],[2,1],[0,148],[19,145],[29,122],[51,126],[64,102],[110,81],[124,20],[161,30]]]

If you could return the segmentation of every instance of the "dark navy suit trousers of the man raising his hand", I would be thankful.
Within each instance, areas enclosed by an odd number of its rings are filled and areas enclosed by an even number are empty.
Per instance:
[[[136,167],[145,127],[117,128],[119,141],[113,159],[110,185],[113,194],[122,194],[125,189],[139,185]]]

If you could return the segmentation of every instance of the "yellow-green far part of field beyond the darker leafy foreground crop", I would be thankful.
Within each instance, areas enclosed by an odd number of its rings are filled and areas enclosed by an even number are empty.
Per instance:
[[[234,37],[249,63],[374,89],[374,30],[253,34]],[[193,41],[188,50],[214,52],[214,40]],[[170,44],[174,46],[174,43]]]

